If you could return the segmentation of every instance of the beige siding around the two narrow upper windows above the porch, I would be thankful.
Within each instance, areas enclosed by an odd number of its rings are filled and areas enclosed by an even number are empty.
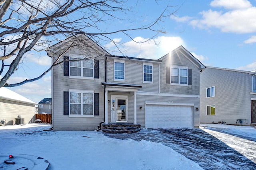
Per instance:
[[[143,61],[116,59],[124,61],[124,82],[114,81],[114,58],[108,58],[107,82],[138,84],[142,86],[139,91],[158,92],[158,64],[153,63],[153,83],[143,83]],[[150,62],[149,62],[150,63]]]

